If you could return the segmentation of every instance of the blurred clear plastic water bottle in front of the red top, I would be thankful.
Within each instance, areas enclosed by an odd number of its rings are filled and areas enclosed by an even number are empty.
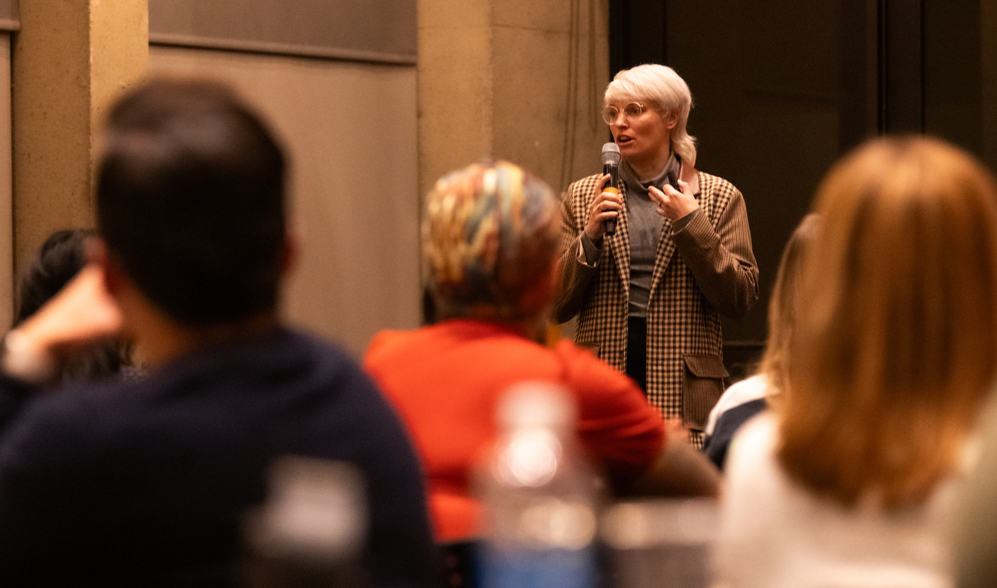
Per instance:
[[[519,384],[500,401],[502,434],[475,480],[482,588],[596,586],[598,483],[576,421],[573,399],[551,384]]]

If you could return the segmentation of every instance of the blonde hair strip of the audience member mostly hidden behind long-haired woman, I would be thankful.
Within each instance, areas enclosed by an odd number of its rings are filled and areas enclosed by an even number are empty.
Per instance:
[[[793,346],[797,317],[806,311],[801,293],[804,259],[807,248],[817,235],[820,219],[820,214],[808,214],[790,235],[772,287],[772,297],[769,299],[769,339],[759,372],[769,379],[768,398],[773,404],[779,403],[780,391],[786,386],[786,361]]]

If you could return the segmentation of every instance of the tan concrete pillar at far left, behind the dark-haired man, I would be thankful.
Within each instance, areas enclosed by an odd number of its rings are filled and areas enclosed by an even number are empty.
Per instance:
[[[14,253],[93,226],[96,140],[149,66],[148,0],[20,0],[13,51]]]

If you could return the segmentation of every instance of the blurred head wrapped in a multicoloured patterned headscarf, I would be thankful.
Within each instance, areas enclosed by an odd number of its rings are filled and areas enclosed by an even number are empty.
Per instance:
[[[445,175],[426,199],[423,256],[440,318],[521,321],[547,307],[557,198],[507,161]]]

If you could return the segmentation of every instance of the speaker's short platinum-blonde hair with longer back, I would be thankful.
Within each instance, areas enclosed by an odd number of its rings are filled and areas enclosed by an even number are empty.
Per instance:
[[[662,116],[675,114],[678,123],[672,130],[671,149],[690,166],[696,165],[696,138],[686,131],[692,94],[685,80],[668,66],[647,64],[623,70],[606,87],[603,104],[616,100],[653,102]]]

